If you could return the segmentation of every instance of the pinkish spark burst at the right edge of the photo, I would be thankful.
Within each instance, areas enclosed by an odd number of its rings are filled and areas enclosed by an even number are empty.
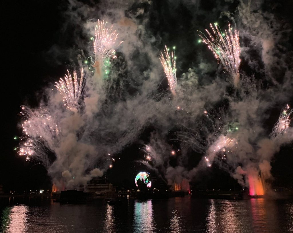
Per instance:
[[[286,133],[287,128],[289,128],[290,125],[290,115],[293,113],[293,109],[290,109],[290,106],[287,104],[281,111],[280,117],[275,124],[271,137],[277,137],[281,133]]]

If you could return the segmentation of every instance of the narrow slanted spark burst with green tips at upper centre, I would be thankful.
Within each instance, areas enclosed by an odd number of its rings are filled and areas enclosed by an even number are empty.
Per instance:
[[[166,74],[166,78],[168,79],[168,84],[170,87],[170,91],[174,96],[176,96],[176,86],[177,86],[177,78],[176,78],[176,57],[175,57],[175,47],[173,47],[173,51],[171,54],[169,49],[165,45],[164,53],[160,54],[160,61],[163,66],[164,72]]]

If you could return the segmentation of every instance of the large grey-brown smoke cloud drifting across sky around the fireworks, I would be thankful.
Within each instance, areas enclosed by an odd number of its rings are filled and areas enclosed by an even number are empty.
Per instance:
[[[108,21],[123,43],[116,48],[117,58],[111,61],[106,79],[92,72],[92,67],[84,67],[87,75],[76,111],[64,108],[60,93],[51,90],[52,86],[45,93],[40,108],[47,109],[59,129],[58,135],[43,142],[56,158],[48,159],[47,149],[38,158],[49,175],[56,182],[62,178],[68,188],[86,184],[102,176],[112,156],[140,141],[151,126],[150,137],[143,143],[151,164],[143,160],[170,185],[183,178],[192,180],[214,163],[242,186],[248,186],[248,174],[262,172],[265,179],[270,178],[274,154],[293,139],[292,128],[270,137],[272,129],[265,123],[274,108],[279,112],[280,106],[292,100],[293,65],[288,59],[292,51],[285,50],[291,32],[273,13],[262,10],[262,1],[240,1],[234,11],[228,10],[229,4],[234,3],[225,1],[224,7],[214,3],[214,10],[207,12],[197,1],[170,1],[161,9],[162,17],[167,9],[173,13],[168,16],[172,20],[165,22],[157,16],[156,1],[112,0],[87,5],[70,0],[68,24],[78,25],[81,33],[91,38],[97,19]],[[177,20],[176,11],[188,13],[190,21]],[[203,15],[206,18],[201,21]],[[223,28],[231,21],[240,31],[243,69],[240,67],[237,88],[231,86],[212,53],[197,44],[196,30],[204,30],[219,17],[225,23]],[[176,32],[185,29],[185,35]],[[164,44],[173,43],[177,43],[176,96],[168,89],[158,58]],[[94,57],[92,41],[76,36],[76,45],[83,50],[79,66]],[[188,164],[190,151],[202,156],[192,168]],[[176,165],[171,165],[174,157]]]

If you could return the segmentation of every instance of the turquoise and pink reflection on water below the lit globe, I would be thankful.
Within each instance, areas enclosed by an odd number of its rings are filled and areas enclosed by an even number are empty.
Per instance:
[[[134,202],[134,232],[155,232],[153,205],[151,200]]]

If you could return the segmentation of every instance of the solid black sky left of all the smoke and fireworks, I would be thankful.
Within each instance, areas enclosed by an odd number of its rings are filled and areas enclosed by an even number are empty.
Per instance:
[[[28,164],[24,158],[19,157],[14,150],[18,140],[13,138],[21,135],[17,127],[20,106],[25,103],[36,105],[42,88],[52,82],[54,77],[64,73],[65,68],[55,64],[52,66],[46,61],[45,55],[55,41],[59,40],[62,4],[60,1],[14,1],[4,5],[6,17],[3,17],[2,23],[6,59],[3,66],[5,88],[2,98],[5,123],[0,183],[4,184],[6,191],[10,188],[39,189],[40,185],[48,183],[47,172],[42,165]],[[66,2],[63,6],[66,7]],[[12,70],[12,67],[15,69]]]

